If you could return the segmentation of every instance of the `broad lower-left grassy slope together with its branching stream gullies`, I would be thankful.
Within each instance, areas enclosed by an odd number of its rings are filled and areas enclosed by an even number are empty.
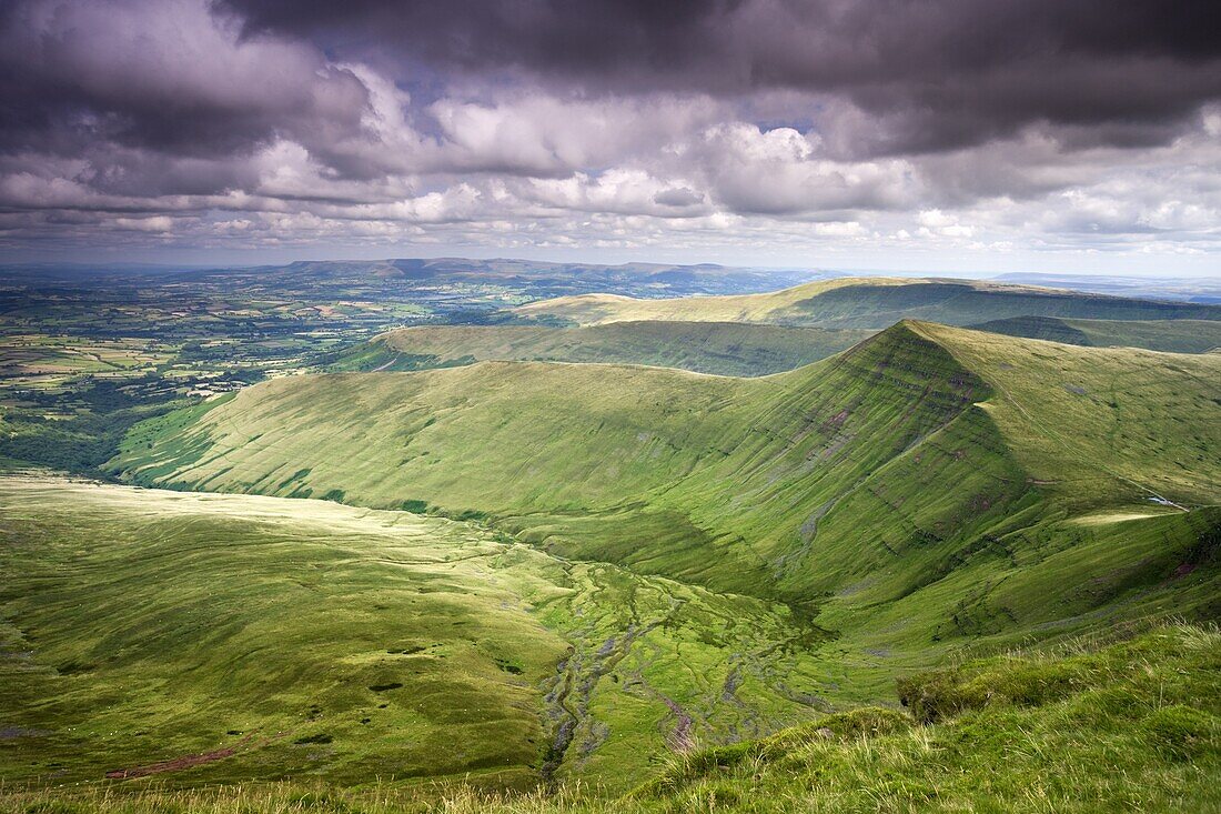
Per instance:
[[[0,506],[0,786],[617,786],[838,678],[788,607],[470,523],[29,477]]]

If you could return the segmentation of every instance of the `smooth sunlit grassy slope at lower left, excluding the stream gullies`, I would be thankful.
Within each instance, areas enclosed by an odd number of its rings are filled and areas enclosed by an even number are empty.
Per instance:
[[[9,781],[220,748],[237,752],[160,777],[532,774],[536,684],[565,642],[476,529],[313,501],[0,489]]]

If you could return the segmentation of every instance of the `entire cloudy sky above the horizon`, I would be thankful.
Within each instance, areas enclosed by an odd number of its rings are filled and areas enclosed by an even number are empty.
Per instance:
[[[1215,0],[0,0],[0,260],[1221,275]]]

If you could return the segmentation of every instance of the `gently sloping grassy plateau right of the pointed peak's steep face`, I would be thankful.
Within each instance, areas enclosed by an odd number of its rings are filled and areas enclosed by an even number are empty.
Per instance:
[[[1077,348],[923,325],[995,383],[987,405],[1015,456],[1062,502],[1221,502],[1221,359]]]

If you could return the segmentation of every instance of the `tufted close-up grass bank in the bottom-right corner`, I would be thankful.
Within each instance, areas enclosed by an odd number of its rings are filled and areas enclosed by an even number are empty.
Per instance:
[[[1221,792],[1221,636],[1172,626],[900,682],[934,726],[856,713],[676,758],[650,810],[1181,812]],[[917,703],[917,699],[921,703]],[[656,801],[656,803],[654,803]],[[707,810],[707,809],[705,809]]]

